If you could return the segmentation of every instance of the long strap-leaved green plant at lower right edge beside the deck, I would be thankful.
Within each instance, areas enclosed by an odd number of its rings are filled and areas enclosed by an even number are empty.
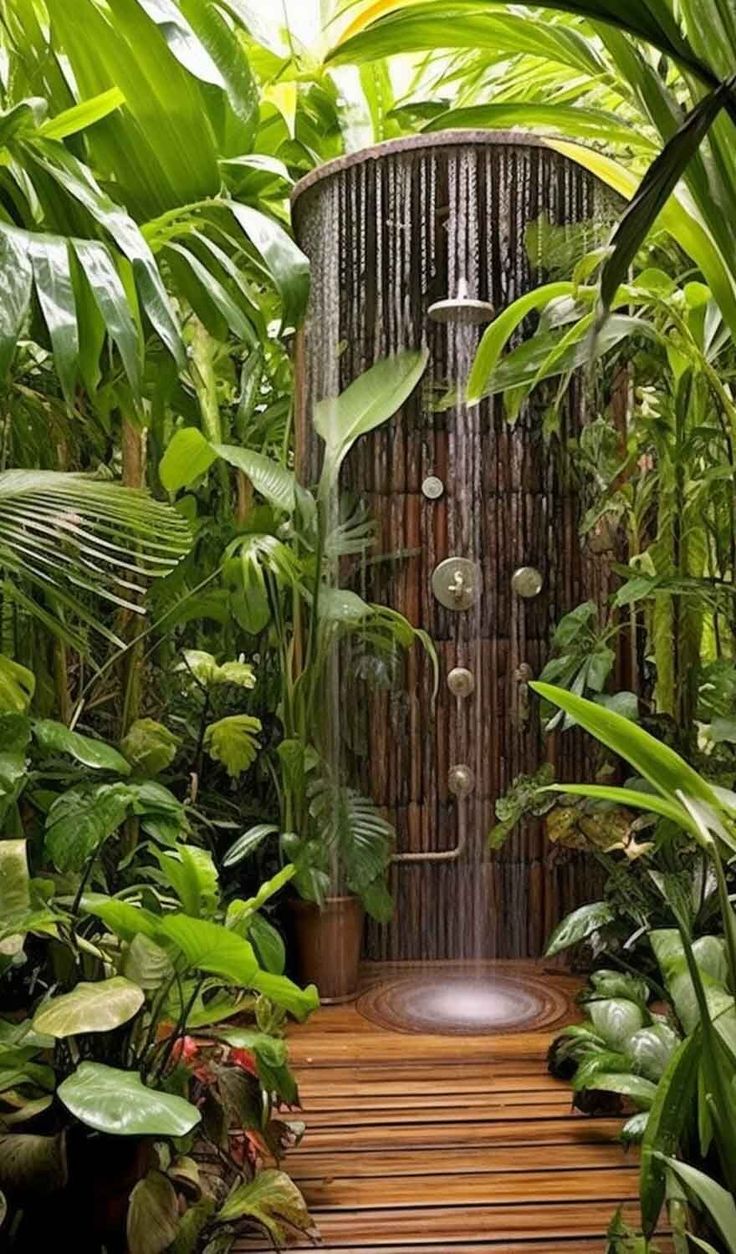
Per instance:
[[[652,813],[661,828],[660,840],[671,839],[673,831],[685,833],[707,860],[717,894],[713,922],[721,934],[695,937],[687,894],[672,879],[661,877],[658,880],[676,927],[649,930],[648,939],[673,1014],[685,1036],[671,1053],[656,1088],[639,1092],[641,1077],[636,1082],[639,1101],[649,1110],[642,1142],[641,1204],[643,1230],[646,1236],[651,1236],[666,1193],[671,1191],[675,1201],[680,1200],[680,1190],[671,1189],[673,1176],[666,1170],[667,1162],[672,1164],[677,1151],[692,1152],[692,1146],[696,1146],[703,1159],[712,1155],[726,1189],[713,1185],[711,1198],[723,1194],[730,1199],[730,1206],[733,1205],[736,914],[728,890],[728,863],[736,851],[736,798],[727,789],[708,782],[675,750],[621,715],[560,688],[539,683],[534,686],[542,697],[569,712],[582,727],[628,761],[639,776],[627,788],[586,784],[553,788],[564,788],[573,795],[626,804]],[[637,1017],[646,1013],[641,996],[634,1002],[629,997],[627,1004],[629,1008],[626,1013],[622,1011],[622,1016],[628,1026],[619,1038],[619,1045],[624,1048],[614,1051],[622,1055],[617,1066],[627,1066],[631,1058],[631,1041],[627,1041],[629,1027],[633,1027],[631,1006],[636,1006]],[[602,1014],[608,1020],[608,1012],[596,1011],[594,1006],[593,1002],[591,1016]],[[616,1028],[617,1021],[616,1009],[611,1013],[613,1018],[606,1025],[608,1032],[612,1026]],[[606,1032],[601,1032],[601,1037],[604,1046],[612,1043]],[[597,1042],[591,1043],[597,1048]],[[594,1056],[583,1062],[593,1086],[599,1083],[613,1091],[628,1090],[628,1096],[636,1097],[631,1073],[618,1070],[612,1073],[607,1071],[602,1058],[598,1061],[601,1067]],[[582,1085],[586,1083],[583,1073]],[[733,1228],[730,1220],[723,1226],[717,1206],[713,1211],[712,1204],[707,1201],[711,1188],[707,1178],[702,1178],[700,1169],[690,1169],[688,1165],[675,1166],[672,1170],[677,1180],[690,1180],[690,1196],[700,1199],[700,1204],[706,1199],[710,1223],[715,1223],[727,1244],[732,1241]],[[695,1174],[690,1174],[691,1170]],[[730,1214],[728,1208],[725,1214]]]

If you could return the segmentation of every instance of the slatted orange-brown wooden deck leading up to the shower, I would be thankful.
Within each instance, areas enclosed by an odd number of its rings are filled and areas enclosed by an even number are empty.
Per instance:
[[[374,981],[376,968],[364,978]],[[569,976],[552,969],[544,978],[574,993]],[[325,1007],[296,1027],[291,1048],[307,1132],[288,1170],[323,1249],[583,1254],[604,1249],[619,1204],[636,1225],[637,1162],[616,1142],[619,1122],[573,1114],[569,1087],[547,1073],[558,1030],[399,1033],[369,1023],[354,1006]]]

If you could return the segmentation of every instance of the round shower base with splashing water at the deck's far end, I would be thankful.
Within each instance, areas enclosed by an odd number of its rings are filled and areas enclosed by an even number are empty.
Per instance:
[[[569,1002],[530,976],[444,973],[409,976],[369,988],[356,1008],[395,1032],[492,1036],[555,1023]]]

